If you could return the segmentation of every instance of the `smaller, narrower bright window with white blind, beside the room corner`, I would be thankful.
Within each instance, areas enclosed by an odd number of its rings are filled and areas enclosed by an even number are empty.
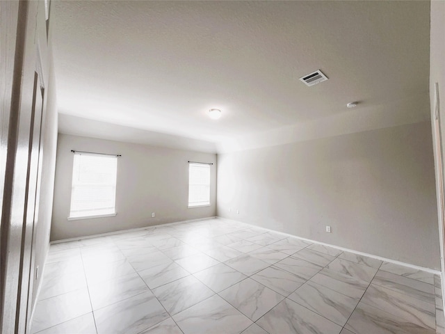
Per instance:
[[[188,207],[210,205],[210,165],[188,164]]]

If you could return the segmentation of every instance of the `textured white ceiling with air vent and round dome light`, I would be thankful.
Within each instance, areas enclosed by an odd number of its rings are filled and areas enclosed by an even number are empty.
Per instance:
[[[122,125],[128,138],[148,130],[142,142],[161,133],[156,145],[184,136],[223,152],[429,117],[428,1],[51,6],[61,132],[125,140]],[[328,81],[298,80],[318,69]]]

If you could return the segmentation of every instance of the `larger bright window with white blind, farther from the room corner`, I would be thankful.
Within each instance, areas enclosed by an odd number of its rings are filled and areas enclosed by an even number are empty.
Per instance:
[[[118,157],[74,152],[70,218],[115,214]]]

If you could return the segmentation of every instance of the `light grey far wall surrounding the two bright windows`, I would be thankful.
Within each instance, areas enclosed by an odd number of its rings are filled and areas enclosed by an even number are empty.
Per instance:
[[[71,150],[122,154],[118,159],[117,216],[67,221]],[[211,206],[188,209],[188,161],[211,165]],[[151,213],[156,217],[152,218]],[[140,228],[216,215],[216,154],[59,134],[51,240]]]

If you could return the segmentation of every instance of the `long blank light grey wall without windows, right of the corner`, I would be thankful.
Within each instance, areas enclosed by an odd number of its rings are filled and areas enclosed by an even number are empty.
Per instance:
[[[437,269],[434,177],[430,122],[220,154],[217,213]]]

